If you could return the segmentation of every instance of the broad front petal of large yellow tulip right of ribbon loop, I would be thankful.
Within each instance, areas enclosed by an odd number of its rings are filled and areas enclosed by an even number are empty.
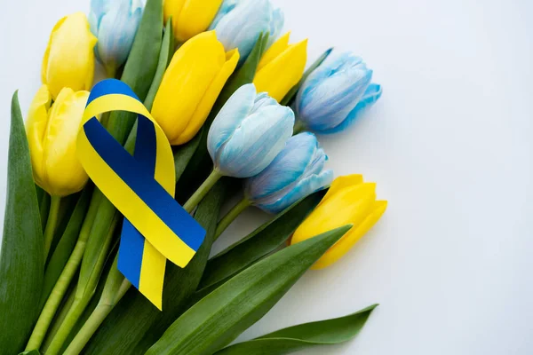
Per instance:
[[[152,108],[152,115],[171,143],[187,129],[226,61],[226,51],[214,31],[191,38],[176,51]]]

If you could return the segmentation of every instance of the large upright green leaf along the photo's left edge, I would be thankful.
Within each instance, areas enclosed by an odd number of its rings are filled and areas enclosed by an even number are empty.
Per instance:
[[[24,350],[38,316],[44,274],[43,229],[17,92],[11,114],[0,251],[0,349],[6,354]]]

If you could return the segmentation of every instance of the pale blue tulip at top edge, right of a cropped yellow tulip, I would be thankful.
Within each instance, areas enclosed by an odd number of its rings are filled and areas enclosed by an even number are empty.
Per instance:
[[[217,32],[226,51],[239,49],[241,62],[248,57],[261,32],[274,43],[283,28],[283,12],[270,0],[224,0],[210,29]]]

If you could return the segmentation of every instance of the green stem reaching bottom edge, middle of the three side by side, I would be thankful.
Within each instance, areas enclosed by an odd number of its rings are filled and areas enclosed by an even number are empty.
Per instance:
[[[111,243],[111,235],[115,233],[115,226],[118,224],[119,220],[120,214],[115,213],[115,217],[113,217],[111,225],[109,225],[109,229],[107,231],[107,238],[105,240],[106,245],[104,245],[104,249],[107,249]],[[85,307],[87,307],[87,304],[91,302],[92,295],[94,295],[94,291],[98,285],[101,269],[106,259],[105,256],[107,256],[107,253],[102,253],[102,255],[99,257],[97,264],[95,264],[94,271],[91,273],[91,277],[87,281],[87,284],[83,285],[83,292],[78,292],[79,290],[76,289],[76,298],[74,300],[74,304],[72,304],[72,307],[68,311],[67,317],[61,323],[58,332],[53,336],[52,343],[50,343],[50,347],[46,351],[46,355],[57,355],[60,353],[61,349],[63,348],[63,344],[67,340],[72,328],[76,325],[78,319],[80,319]],[[78,284],[78,288],[81,286],[82,285]]]

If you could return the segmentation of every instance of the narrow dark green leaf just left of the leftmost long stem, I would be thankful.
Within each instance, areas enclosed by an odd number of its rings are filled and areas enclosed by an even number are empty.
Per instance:
[[[50,296],[52,288],[55,286],[56,281],[60,278],[60,274],[63,268],[67,264],[68,257],[72,254],[72,250],[76,245],[78,235],[82,229],[84,218],[89,209],[89,202],[91,202],[92,186],[89,185],[84,188],[80,199],[76,203],[76,208],[72,213],[72,216],[68,220],[67,228],[61,236],[58,246],[53,251],[50,262],[46,266],[46,272],[44,272],[44,285],[43,293],[41,296],[40,309],[43,308],[44,303]]]

